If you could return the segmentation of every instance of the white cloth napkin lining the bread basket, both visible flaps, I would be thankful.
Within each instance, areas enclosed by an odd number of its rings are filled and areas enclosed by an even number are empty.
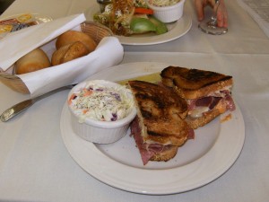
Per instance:
[[[20,57],[35,48],[42,48],[50,57],[56,49],[56,37],[65,31],[79,31],[85,20],[84,14],[76,14],[8,34],[0,43],[1,70],[13,68]],[[102,69],[119,64],[123,55],[124,49],[117,38],[105,37],[85,57],[17,76],[28,87],[30,96],[35,97],[67,84],[80,83]]]

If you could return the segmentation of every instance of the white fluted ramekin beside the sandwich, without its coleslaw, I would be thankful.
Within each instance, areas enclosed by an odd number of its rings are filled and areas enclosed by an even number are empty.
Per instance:
[[[108,82],[104,80],[93,80],[93,81],[86,81],[77,84],[74,86],[74,88],[69,92],[68,94],[68,100],[70,97],[74,94],[74,92],[80,91],[82,88],[84,88],[87,83],[98,83],[102,84],[106,87],[116,87],[118,88],[121,86],[118,83]],[[122,87],[122,86],[121,86]],[[127,97],[130,100],[133,100],[133,95],[131,92],[127,92]],[[71,107],[69,104],[68,109],[71,111],[72,115],[72,127],[74,129],[74,133],[78,136],[81,136],[83,139],[98,143],[98,144],[109,144],[114,143],[123,136],[126,135],[127,129],[129,127],[129,124],[136,116],[136,110],[133,106],[130,108],[129,113],[126,115],[123,119],[117,119],[116,121],[103,121],[103,120],[97,120],[97,119],[90,119],[86,118],[84,121],[79,121],[81,119],[81,116],[79,116],[77,113],[75,113],[75,110],[73,107]]]

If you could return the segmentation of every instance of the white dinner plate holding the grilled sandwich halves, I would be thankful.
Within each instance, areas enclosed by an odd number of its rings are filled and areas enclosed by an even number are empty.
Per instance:
[[[160,72],[163,63],[129,63],[110,67],[89,79],[119,81]],[[84,171],[117,189],[165,195],[199,188],[221,176],[237,160],[245,140],[245,124],[237,109],[195,130],[195,139],[178,149],[169,162],[143,165],[128,130],[114,144],[95,145],[74,134],[70,112],[65,104],[61,115],[61,133],[68,152]]]

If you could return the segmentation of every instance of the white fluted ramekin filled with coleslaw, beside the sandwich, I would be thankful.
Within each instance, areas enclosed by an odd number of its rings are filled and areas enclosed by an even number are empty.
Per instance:
[[[69,92],[67,104],[74,133],[97,144],[114,143],[125,136],[136,116],[130,90],[105,80],[77,84]]]

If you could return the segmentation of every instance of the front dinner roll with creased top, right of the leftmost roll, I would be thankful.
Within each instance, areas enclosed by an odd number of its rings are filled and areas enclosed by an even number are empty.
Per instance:
[[[51,64],[57,66],[75,58],[86,56],[89,53],[89,49],[82,42],[76,41],[57,49],[52,54]]]

